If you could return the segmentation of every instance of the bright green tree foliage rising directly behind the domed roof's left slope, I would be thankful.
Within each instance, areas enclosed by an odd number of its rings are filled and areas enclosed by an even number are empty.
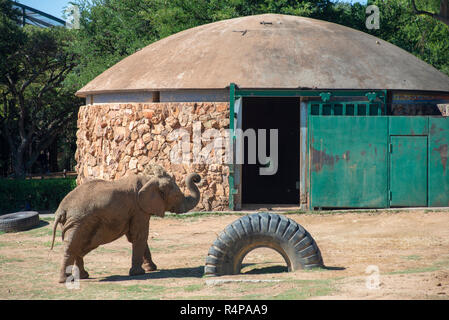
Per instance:
[[[261,13],[332,15],[330,0],[75,0],[81,29],[71,50],[80,57],[65,81],[81,88],[154,41],[202,24]]]

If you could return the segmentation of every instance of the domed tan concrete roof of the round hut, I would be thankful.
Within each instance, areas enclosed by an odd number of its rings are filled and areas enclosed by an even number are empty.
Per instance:
[[[123,59],[77,92],[173,89],[398,89],[449,92],[449,77],[367,33],[263,14],[188,29]]]

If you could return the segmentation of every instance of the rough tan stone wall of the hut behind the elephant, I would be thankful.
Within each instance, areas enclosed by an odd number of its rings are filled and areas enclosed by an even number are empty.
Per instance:
[[[224,151],[218,154],[217,149],[212,150],[217,153],[212,161],[196,163],[173,162],[170,152],[185,150],[184,147],[193,152],[194,132],[204,134],[207,129],[215,129],[226,137],[228,128],[229,103],[226,102],[83,106],[78,114],[77,182],[119,179],[130,172],[140,173],[146,164],[155,162],[174,175],[184,191],[187,173],[194,171],[201,175],[201,201],[196,210],[226,210],[229,187]],[[174,138],[177,129],[190,135],[189,141],[182,140],[184,145],[181,139]],[[206,154],[210,150],[208,144],[210,147],[209,142],[202,141],[196,150]]]

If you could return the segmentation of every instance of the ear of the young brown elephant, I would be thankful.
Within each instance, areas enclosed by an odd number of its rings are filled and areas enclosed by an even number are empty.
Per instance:
[[[141,210],[148,214],[164,216],[165,201],[157,179],[151,179],[139,190],[137,204]]]

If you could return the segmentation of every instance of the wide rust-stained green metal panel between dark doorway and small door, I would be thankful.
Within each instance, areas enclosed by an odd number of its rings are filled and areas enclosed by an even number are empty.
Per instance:
[[[388,117],[309,119],[311,207],[388,207]]]

